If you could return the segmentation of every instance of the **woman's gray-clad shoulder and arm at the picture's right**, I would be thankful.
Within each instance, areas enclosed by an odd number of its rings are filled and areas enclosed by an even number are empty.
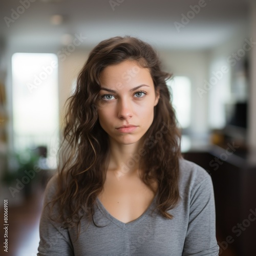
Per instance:
[[[181,202],[174,214],[185,227],[183,254],[218,255],[211,177],[204,168],[184,159],[180,160],[179,167]]]

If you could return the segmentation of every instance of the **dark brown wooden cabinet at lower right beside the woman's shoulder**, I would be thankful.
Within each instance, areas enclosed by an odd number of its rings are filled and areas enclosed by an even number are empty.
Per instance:
[[[227,151],[226,151],[227,150]],[[205,168],[212,178],[216,202],[220,255],[256,255],[256,165],[230,148],[209,146],[183,153]]]

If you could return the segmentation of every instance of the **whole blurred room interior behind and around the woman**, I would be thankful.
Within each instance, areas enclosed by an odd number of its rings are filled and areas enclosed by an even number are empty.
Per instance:
[[[88,53],[117,35],[149,42],[174,74],[168,86],[183,156],[214,183],[220,255],[256,255],[256,1],[2,0],[0,6],[0,223],[8,199],[9,255],[37,253],[42,193],[56,169],[65,101]]]

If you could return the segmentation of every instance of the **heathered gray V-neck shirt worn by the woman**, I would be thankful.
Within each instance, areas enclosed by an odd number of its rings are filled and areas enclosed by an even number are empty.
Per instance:
[[[56,187],[56,178],[50,180],[45,191],[47,202]],[[122,223],[112,217],[97,199],[94,222],[82,221],[81,234],[76,240],[76,229],[62,229],[48,218],[48,209],[42,211],[38,256],[65,255],[218,255],[216,241],[215,202],[211,178],[195,163],[180,160],[179,205],[169,210],[174,216],[166,219],[150,207],[135,221]],[[86,230],[86,231],[84,231]]]

